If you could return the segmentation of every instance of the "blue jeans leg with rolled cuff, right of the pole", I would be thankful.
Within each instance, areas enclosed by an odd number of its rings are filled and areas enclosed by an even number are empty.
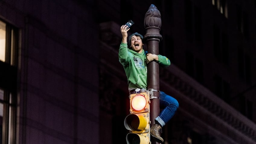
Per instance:
[[[175,98],[160,91],[160,108],[163,110],[155,121],[164,126],[174,116],[178,107],[179,103]]]

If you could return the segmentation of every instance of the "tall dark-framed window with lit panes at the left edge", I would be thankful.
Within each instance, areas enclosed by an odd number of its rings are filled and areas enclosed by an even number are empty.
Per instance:
[[[18,30],[0,21],[0,144],[16,143]]]

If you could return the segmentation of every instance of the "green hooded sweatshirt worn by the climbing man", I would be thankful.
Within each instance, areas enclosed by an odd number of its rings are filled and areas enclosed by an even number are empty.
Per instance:
[[[141,53],[137,53],[128,49],[127,43],[121,43],[119,48],[119,62],[123,65],[129,91],[136,88],[147,88],[147,63],[146,54],[142,50]],[[165,56],[158,55],[158,61],[160,66],[168,67],[171,62]]]

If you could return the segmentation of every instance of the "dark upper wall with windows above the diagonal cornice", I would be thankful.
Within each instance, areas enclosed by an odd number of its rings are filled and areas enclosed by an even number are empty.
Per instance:
[[[218,2],[226,2],[223,11]],[[159,51],[247,116],[248,112],[242,107],[250,107],[252,111],[254,107],[250,105],[255,105],[255,2],[156,3],[163,22],[162,50]],[[255,122],[252,115],[249,117]]]

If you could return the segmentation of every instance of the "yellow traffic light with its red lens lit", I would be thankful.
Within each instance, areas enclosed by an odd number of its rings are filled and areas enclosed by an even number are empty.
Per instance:
[[[127,144],[149,144],[149,92],[130,94],[130,114],[124,120],[124,126],[130,133],[126,136]]]

